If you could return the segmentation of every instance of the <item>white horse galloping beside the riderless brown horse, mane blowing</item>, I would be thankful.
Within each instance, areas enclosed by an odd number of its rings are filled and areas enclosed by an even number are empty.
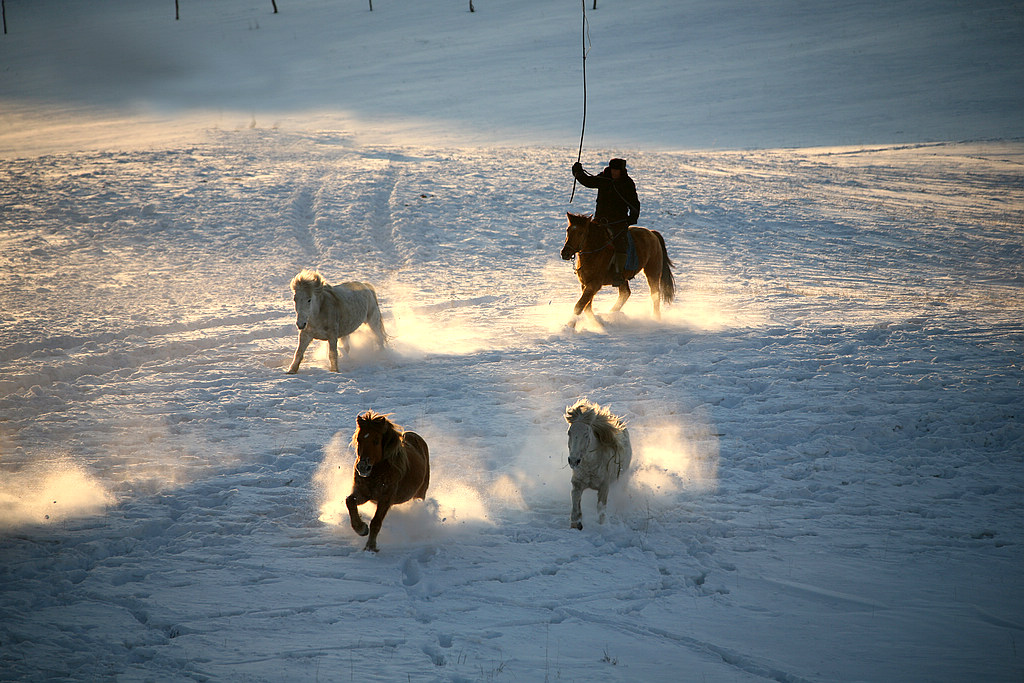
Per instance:
[[[626,424],[606,408],[581,398],[565,409],[569,423],[569,467],[572,468],[572,512],[569,525],[583,528],[580,499],[585,488],[597,489],[597,521],[604,523],[608,487],[630,468],[633,447]]]

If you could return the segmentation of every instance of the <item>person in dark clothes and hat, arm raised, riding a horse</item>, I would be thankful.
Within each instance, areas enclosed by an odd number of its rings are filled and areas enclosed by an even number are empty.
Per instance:
[[[626,252],[629,248],[630,225],[640,219],[640,198],[637,186],[626,171],[625,159],[612,159],[598,175],[584,170],[583,164],[572,165],[572,177],[585,187],[597,188],[597,209],[594,220],[604,225],[615,254],[611,259],[612,282],[615,287],[626,282]]]

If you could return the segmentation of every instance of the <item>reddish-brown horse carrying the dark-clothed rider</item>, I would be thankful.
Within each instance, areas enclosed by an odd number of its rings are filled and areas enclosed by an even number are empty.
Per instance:
[[[590,214],[566,213],[565,215],[568,217],[568,225],[565,227],[565,245],[562,247],[561,255],[566,261],[573,256],[577,257],[575,273],[583,288],[583,295],[572,309],[572,319],[569,321],[569,325],[574,328],[580,322],[581,313],[586,313],[592,322],[600,325],[592,306],[594,295],[605,285],[611,285],[609,265],[614,255],[611,236],[608,233],[608,228],[596,222]],[[672,278],[672,261],[665,248],[665,238],[660,232],[637,225],[630,227],[630,234],[636,244],[638,263],[635,269],[631,269],[630,264],[627,264],[626,281],[618,286],[618,299],[611,310],[616,311],[623,307],[630,298],[629,281],[643,270],[650,287],[654,317],[660,319],[662,302],[672,303],[676,298],[676,283]]]

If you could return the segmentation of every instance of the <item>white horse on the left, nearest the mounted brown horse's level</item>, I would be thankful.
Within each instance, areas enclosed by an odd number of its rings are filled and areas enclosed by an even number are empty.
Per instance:
[[[295,293],[299,345],[292,367],[288,369],[289,375],[299,372],[302,356],[313,339],[327,341],[331,372],[338,372],[338,339],[348,355],[348,335],[364,323],[373,330],[380,348],[387,343],[377,292],[372,286],[366,283],[328,285],[318,272],[303,270],[292,280],[292,292]]]

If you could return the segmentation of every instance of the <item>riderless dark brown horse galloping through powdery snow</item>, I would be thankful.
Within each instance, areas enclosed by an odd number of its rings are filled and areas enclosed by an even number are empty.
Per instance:
[[[364,550],[374,552],[378,550],[377,535],[391,506],[413,498],[422,500],[430,484],[426,441],[416,432],[404,431],[388,417],[367,411],[355,419],[352,494],[345,499],[352,529],[359,536],[370,535]],[[357,509],[368,501],[377,504],[377,512],[369,526]]]

